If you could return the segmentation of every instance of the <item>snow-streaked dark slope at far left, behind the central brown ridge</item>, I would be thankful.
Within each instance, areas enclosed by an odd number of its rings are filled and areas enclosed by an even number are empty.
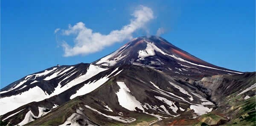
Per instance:
[[[79,70],[79,67],[84,66],[85,70]],[[6,90],[1,92],[0,107],[6,109],[1,109],[0,115],[33,101],[42,101],[58,95],[104,70],[108,70],[108,68],[86,64],[80,66],[52,67],[43,72],[28,75],[20,81],[11,84],[8,87],[9,89],[4,88]]]

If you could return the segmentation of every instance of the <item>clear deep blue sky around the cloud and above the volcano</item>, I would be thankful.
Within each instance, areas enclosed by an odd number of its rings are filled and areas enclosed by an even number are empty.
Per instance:
[[[154,11],[147,29],[212,64],[255,71],[254,0],[2,0],[1,88],[48,67],[90,63],[119,48],[115,43],[89,55],[64,57],[56,28],[83,22],[109,34],[129,24],[136,6]],[[156,2],[155,2],[156,1]],[[134,37],[145,35],[137,31]]]

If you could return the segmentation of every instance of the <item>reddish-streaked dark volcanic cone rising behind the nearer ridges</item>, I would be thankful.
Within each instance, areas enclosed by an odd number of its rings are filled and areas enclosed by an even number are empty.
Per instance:
[[[157,36],[134,38],[93,64],[105,66],[136,64],[190,75],[241,74],[205,62]]]

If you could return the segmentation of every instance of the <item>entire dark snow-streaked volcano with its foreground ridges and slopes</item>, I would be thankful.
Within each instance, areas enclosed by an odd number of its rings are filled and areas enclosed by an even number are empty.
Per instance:
[[[215,66],[157,36],[0,90],[10,125],[253,125],[255,72]]]

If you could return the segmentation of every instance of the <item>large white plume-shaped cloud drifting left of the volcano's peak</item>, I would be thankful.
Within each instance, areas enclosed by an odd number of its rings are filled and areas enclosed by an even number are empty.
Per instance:
[[[106,35],[93,32],[92,29],[85,27],[83,22],[78,22],[73,26],[69,25],[67,30],[62,30],[62,35],[70,36],[74,34],[76,38],[73,47],[66,42],[62,44],[65,51],[64,56],[95,53],[116,42],[132,39],[134,31],[145,27],[145,24],[154,18],[153,11],[146,6],[139,6],[131,15],[134,18],[130,20],[130,24],[123,26],[120,30],[113,30]]]

